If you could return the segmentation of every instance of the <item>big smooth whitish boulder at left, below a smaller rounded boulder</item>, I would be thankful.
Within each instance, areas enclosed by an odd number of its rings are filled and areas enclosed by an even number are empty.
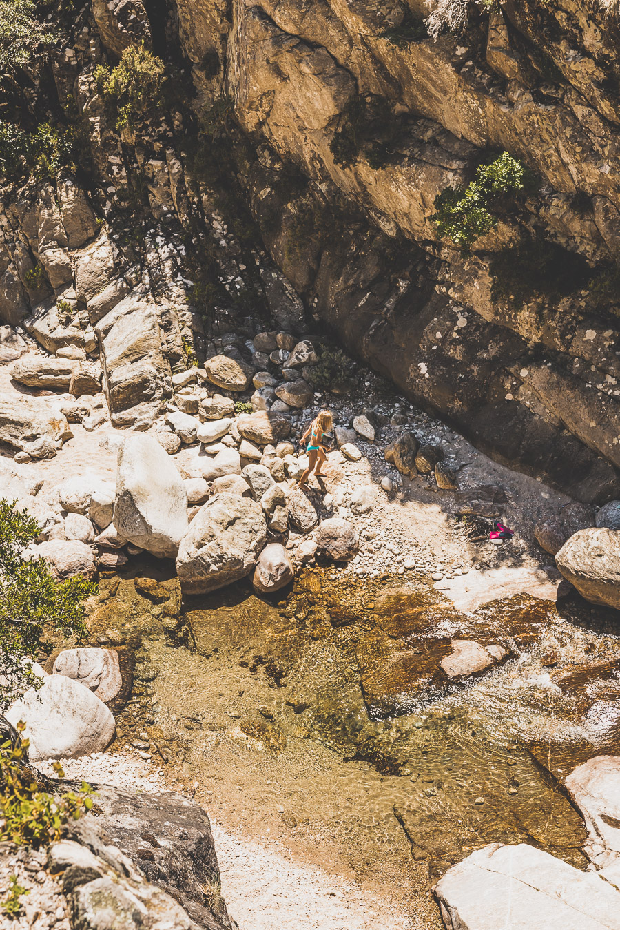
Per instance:
[[[100,752],[114,736],[114,718],[103,701],[65,675],[47,675],[43,686],[29,689],[6,717],[14,726],[25,722],[33,762]]]

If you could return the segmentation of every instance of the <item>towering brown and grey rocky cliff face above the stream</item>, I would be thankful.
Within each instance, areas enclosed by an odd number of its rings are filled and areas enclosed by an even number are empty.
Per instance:
[[[112,422],[147,428],[233,318],[313,317],[496,458],[616,495],[618,30],[595,0],[473,6],[438,38],[430,12],[60,11],[13,118],[73,126],[80,170],[2,190],[4,320],[99,358]],[[94,71],[139,42],[166,61],[165,106],[119,127]],[[469,250],[440,238],[437,194],[502,151],[527,190]]]

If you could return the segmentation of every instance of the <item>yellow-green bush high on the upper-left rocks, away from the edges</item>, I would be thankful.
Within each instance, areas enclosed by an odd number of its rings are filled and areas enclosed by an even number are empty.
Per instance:
[[[164,62],[152,55],[144,43],[125,48],[112,70],[98,65],[95,80],[106,104],[116,117],[116,128],[133,129],[162,106]]]

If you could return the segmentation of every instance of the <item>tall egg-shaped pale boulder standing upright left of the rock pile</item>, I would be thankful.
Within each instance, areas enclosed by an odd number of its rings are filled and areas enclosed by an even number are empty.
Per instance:
[[[152,555],[177,555],[188,527],[187,494],[174,462],[152,436],[135,433],[119,449],[113,524]]]

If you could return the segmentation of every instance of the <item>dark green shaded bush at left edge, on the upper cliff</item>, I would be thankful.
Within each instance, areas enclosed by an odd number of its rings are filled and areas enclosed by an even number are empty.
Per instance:
[[[0,120],[0,176],[11,180],[34,173],[53,178],[59,168],[73,165],[73,134],[42,123],[34,132]]]

